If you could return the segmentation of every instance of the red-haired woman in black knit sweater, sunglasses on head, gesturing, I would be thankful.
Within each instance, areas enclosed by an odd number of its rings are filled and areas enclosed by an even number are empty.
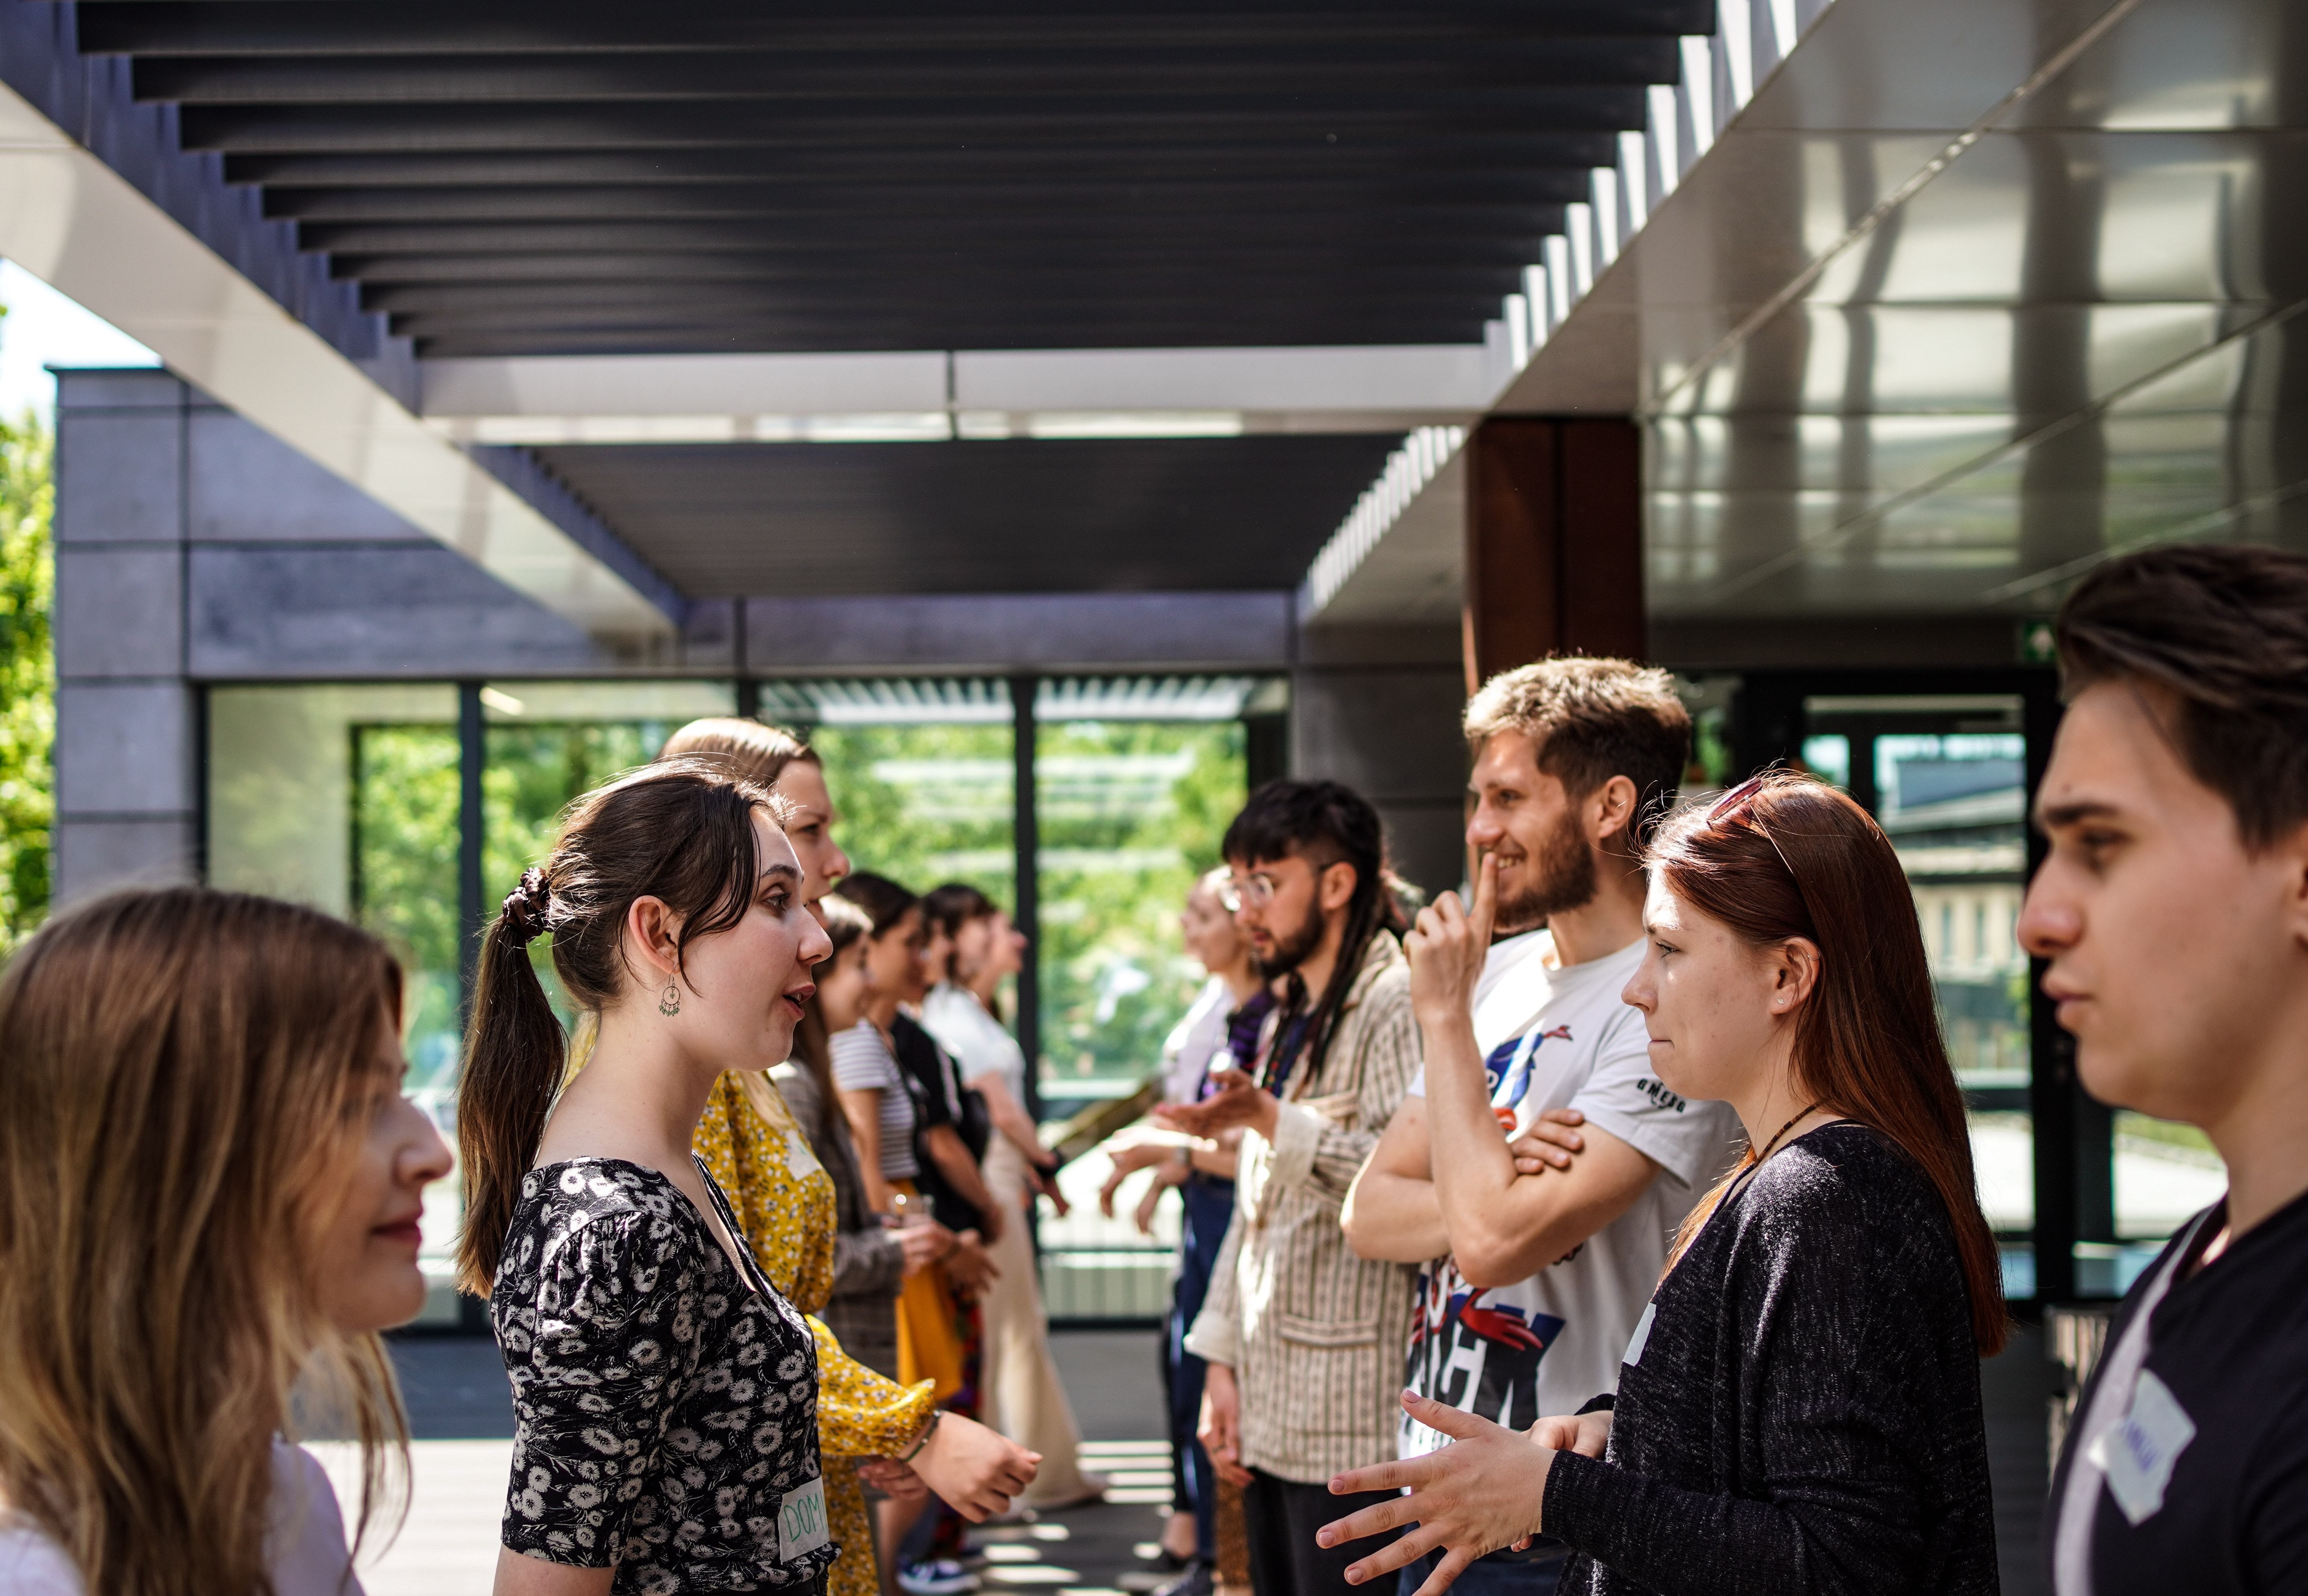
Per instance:
[[[1597,1596],[1996,1589],[2003,1294],[1911,902],[1814,780],[1669,819],[1625,996],[1662,1086],[1731,1102],[1749,1151],[1685,1220],[1616,1398],[1516,1435],[1406,1395],[1461,1439],[1332,1481],[1410,1495],[1325,1545],[1417,1522],[1350,1578],[1445,1548],[1440,1591],[1544,1529],[1581,1554],[1563,1589]]]

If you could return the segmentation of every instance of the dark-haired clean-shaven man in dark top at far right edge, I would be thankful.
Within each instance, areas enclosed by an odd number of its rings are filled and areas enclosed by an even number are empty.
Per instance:
[[[2123,1298],[2052,1481],[2056,1596],[2308,1589],[2308,558],[2172,547],[2061,609],[2019,941],[2091,1096],[2227,1197]]]

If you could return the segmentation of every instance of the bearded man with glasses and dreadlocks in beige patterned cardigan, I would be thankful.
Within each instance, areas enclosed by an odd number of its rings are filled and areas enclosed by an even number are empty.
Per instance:
[[[1186,1349],[1209,1361],[1202,1444],[1242,1485],[1260,1596],[1341,1596],[1313,1531],[1341,1469],[1394,1458],[1410,1268],[1355,1257],[1339,1206],[1419,1068],[1378,812],[1339,782],[1267,782],[1226,828],[1226,906],[1281,985],[1249,1075],[1163,1119],[1242,1128],[1235,1218]],[[1371,1497],[1378,1501],[1378,1497]],[[1359,1501],[1355,1506],[1362,1506]],[[1357,1548],[1362,1550],[1362,1548]]]

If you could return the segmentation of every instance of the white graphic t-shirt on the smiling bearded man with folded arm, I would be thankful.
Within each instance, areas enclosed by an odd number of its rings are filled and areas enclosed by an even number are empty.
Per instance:
[[[1572,1107],[1662,1174],[1586,1245],[1528,1280],[1475,1287],[1447,1257],[1419,1271],[1406,1384],[1514,1430],[1574,1414],[1618,1386],[1669,1239],[1740,1137],[1729,1105],[1685,1102],[1650,1075],[1643,1015],[1618,996],[1643,962],[1641,941],[1569,969],[1549,969],[1546,953],[1546,932],[1493,943],[1475,989],[1475,1045],[1500,1130],[1512,1139],[1542,1112]],[[1410,1096],[1426,1096],[1424,1070]],[[1403,1416],[1403,1458],[1445,1439]]]

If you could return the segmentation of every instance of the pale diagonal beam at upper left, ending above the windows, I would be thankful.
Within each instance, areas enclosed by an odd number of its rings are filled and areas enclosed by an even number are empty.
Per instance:
[[[623,577],[5,85],[0,254],[595,637],[646,648],[672,634]]]

